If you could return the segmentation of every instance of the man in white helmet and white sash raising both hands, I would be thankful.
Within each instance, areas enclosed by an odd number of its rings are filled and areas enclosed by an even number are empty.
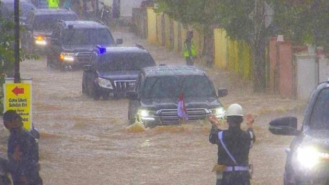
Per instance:
[[[209,121],[212,123],[209,141],[218,145],[217,163],[223,167],[222,170],[217,171],[216,185],[250,185],[248,156],[249,149],[255,141],[252,116],[247,116],[247,131],[240,129],[243,111],[238,104],[228,107],[228,130],[218,129],[216,117],[210,117]]]

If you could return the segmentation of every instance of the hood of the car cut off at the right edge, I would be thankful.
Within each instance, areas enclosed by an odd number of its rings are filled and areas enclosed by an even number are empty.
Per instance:
[[[308,130],[303,133],[302,146],[310,146],[329,150],[329,130]]]

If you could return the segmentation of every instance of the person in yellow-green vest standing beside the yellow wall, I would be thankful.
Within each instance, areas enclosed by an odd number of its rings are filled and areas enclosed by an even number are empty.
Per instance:
[[[189,30],[186,33],[186,40],[184,42],[184,56],[186,59],[186,65],[194,65],[194,58],[196,57],[196,50],[192,42],[193,31]]]

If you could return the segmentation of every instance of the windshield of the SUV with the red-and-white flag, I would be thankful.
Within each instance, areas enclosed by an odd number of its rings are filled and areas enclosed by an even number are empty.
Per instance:
[[[205,76],[162,76],[144,81],[143,98],[211,97],[213,88]]]

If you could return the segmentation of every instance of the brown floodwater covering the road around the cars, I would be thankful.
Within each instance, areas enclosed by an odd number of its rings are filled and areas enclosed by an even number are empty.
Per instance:
[[[184,64],[177,53],[147,44],[119,30],[123,46],[147,48],[157,64]],[[302,122],[304,102],[253,93],[249,82],[227,71],[204,68],[216,89],[228,88],[221,98],[227,107],[239,103],[255,115],[257,141],[250,151],[254,185],[283,184],[284,149],[292,137],[269,133],[271,119],[297,116]],[[21,64],[21,76],[33,78],[33,120],[41,133],[41,176],[45,185],[214,185],[211,172],[217,146],[208,141],[207,122],[144,129],[127,127],[128,100],[98,100],[81,92],[82,70],[46,69],[46,58]],[[225,127],[225,125],[223,126]],[[243,125],[245,128],[245,125]],[[1,152],[8,133],[1,124]]]

